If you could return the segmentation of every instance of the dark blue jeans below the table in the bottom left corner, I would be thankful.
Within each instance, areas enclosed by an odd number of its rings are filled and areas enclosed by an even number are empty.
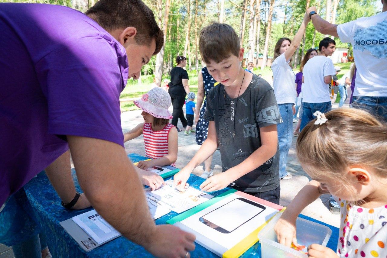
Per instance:
[[[45,234],[38,234],[30,239],[12,246],[15,258],[41,258],[42,251],[47,248]]]

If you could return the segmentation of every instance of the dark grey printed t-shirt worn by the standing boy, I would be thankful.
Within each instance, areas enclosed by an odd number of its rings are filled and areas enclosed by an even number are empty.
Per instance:
[[[261,146],[260,127],[282,122],[272,87],[255,74],[246,91],[238,97],[238,103],[236,98],[227,95],[224,85],[212,88],[207,95],[204,119],[215,121],[223,172],[243,162]],[[274,157],[230,186],[250,193],[276,189],[279,186],[279,148]]]

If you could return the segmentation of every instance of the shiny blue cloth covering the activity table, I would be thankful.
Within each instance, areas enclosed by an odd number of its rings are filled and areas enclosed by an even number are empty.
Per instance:
[[[129,154],[128,157],[132,160],[132,162],[138,162],[146,159],[145,157],[137,154]],[[82,192],[74,169],[72,169],[72,173],[77,191]],[[191,174],[187,183],[189,183],[190,186],[199,189],[200,184],[203,182],[204,179]],[[47,236],[47,244],[53,257],[152,257],[152,255],[142,246],[139,246],[122,236],[103,244],[96,249],[85,252],[62,228],[62,226],[60,226],[59,223],[76,215],[87,212],[92,208],[85,210],[67,210],[63,208],[60,204],[60,198],[51,186],[50,181],[44,172],[40,173],[36,178],[33,178],[26,186],[24,186],[24,188],[36,216],[40,219],[39,225]],[[212,192],[211,194],[217,196],[229,189],[230,188],[225,188],[221,191]],[[128,193],[128,195],[130,195],[130,193]],[[155,222],[156,224],[166,224],[167,220],[175,217],[176,215],[177,213],[170,212]],[[330,237],[327,246],[336,250],[337,238],[339,235],[339,229],[337,227],[327,225],[304,215],[300,215],[300,217],[323,224],[332,229],[332,236]],[[251,256],[257,258],[261,256],[259,242],[248,249],[241,257]],[[191,257],[217,256],[199,244],[196,244],[196,249],[191,253]]]

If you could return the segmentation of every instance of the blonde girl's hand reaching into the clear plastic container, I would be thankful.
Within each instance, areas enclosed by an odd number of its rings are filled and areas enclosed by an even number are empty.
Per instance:
[[[286,210],[281,218],[277,221],[274,226],[274,231],[277,234],[277,241],[284,246],[291,247],[291,243],[298,246],[296,238],[296,221],[286,217]]]

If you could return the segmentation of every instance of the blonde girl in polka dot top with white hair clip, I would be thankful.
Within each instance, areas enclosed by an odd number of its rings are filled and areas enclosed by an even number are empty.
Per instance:
[[[308,255],[386,258],[387,126],[359,109],[314,115],[317,118],[301,131],[296,145],[301,166],[313,180],[274,227],[279,243],[298,246],[298,214],[320,195],[330,193],[341,206],[337,250],[312,244]]]

